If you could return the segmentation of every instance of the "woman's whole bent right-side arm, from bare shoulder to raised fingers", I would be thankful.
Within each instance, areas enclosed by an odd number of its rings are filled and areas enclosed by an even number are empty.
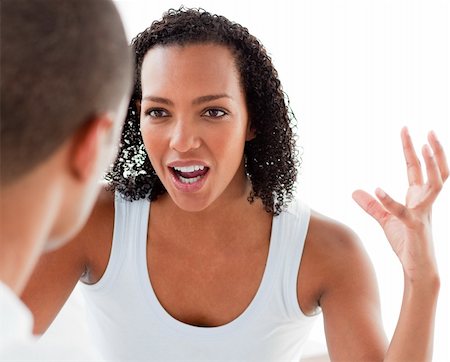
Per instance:
[[[345,226],[313,213],[299,277],[299,302],[306,313],[322,308],[331,360],[431,360],[439,276],[431,234],[431,206],[448,178],[442,147],[433,134],[434,155],[423,150],[424,183],[410,137],[402,131],[408,166],[406,205],[377,190],[354,199],[383,227],[404,271],[400,317],[390,343],[385,337],[375,273],[358,237]],[[305,278],[306,276],[306,278]],[[316,302],[317,304],[317,302]]]

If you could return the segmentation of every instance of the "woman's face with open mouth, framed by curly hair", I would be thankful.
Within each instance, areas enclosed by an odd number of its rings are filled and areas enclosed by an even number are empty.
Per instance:
[[[141,132],[172,200],[201,211],[242,196],[249,131],[245,96],[230,50],[214,44],[158,46],[142,64]]]

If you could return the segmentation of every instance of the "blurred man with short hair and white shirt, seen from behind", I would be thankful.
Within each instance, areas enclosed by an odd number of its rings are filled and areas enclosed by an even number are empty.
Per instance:
[[[89,216],[114,157],[132,60],[110,0],[0,6],[0,358],[58,360],[73,351],[59,346],[59,358],[34,345],[18,295],[40,255]]]

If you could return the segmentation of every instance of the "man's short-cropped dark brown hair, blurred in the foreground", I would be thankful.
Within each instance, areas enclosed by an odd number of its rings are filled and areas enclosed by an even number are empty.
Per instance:
[[[2,0],[0,183],[45,161],[83,124],[114,112],[132,61],[111,0]]]

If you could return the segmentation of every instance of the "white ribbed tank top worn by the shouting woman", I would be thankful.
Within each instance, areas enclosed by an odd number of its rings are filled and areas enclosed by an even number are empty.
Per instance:
[[[294,201],[272,222],[259,289],[246,310],[219,327],[182,323],[159,303],[147,268],[148,200],[115,197],[108,266],[100,281],[82,284],[93,342],[117,361],[296,361],[315,321],[297,299],[297,275],[310,210]]]

